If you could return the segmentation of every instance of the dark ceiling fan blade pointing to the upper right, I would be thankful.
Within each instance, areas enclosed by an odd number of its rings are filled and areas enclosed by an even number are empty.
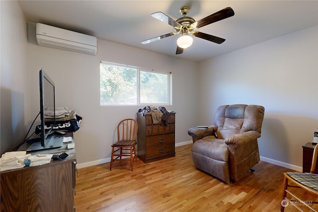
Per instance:
[[[194,22],[193,24],[191,24],[191,28],[198,29],[202,26],[223,20],[223,19],[231,17],[233,15],[234,15],[234,10],[231,7],[226,7],[226,8],[221,9],[220,11],[218,11],[216,13],[213,13],[205,18],[202,18],[201,20]]]

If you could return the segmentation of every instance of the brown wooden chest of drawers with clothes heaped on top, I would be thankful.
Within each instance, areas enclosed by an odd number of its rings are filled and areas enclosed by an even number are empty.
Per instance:
[[[175,156],[175,113],[169,113],[166,126],[154,124],[151,113],[137,113],[137,155],[145,163]]]

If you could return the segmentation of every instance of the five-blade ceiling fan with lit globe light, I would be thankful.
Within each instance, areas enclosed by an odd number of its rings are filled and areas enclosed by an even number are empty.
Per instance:
[[[202,26],[206,26],[210,23],[214,23],[214,22],[233,16],[234,10],[231,7],[226,7],[224,9],[221,9],[220,11],[213,13],[198,21],[195,21],[193,18],[186,16],[189,10],[190,8],[188,6],[181,7],[180,13],[181,15],[183,15],[183,17],[177,19],[176,21],[162,12],[153,13],[151,16],[153,16],[154,18],[157,18],[158,20],[164,23],[167,23],[170,26],[173,26],[174,32],[161,35],[149,40],[145,40],[141,43],[148,44],[154,41],[158,41],[162,38],[166,38],[176,34],[181,34],[181,37],[179,37],[177,40],[177,50],[175,52],[175,54],[178,55],[183,53],[183,49],[186,49],[192,45],[193,39],[191,36],[189,36],[189,34],[192,34],[192,36],[194,37],[202,38],[217,44],[221,44],[225,41],[224,38],[219,38],[213,35],[209,35],[203,32],[193,31],[193,30],[198,29]]]

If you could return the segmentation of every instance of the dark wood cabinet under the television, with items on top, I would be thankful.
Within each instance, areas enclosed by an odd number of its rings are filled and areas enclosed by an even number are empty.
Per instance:
[[[72,142],[74,142],[73,139]],[[19,150],[23,150],[23,146]],[[61,148],[32,152],[32,154],[58,154],[62,152],[69,154],[63,161],[51,160],[50,163],[41,166],[1,172],[0,211],[75,211],[75,148],[67,149],[67,144],[63,144]]]

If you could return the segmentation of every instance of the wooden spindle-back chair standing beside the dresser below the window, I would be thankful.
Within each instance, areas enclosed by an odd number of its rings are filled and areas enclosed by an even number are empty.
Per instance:
[[[117,126],[118,140],[112,144],[112,153],[110,160],[110,169],[115,160],[130,160],[131,170],[133,171],[134,160],[137,161],[136,144],[137,144],[138,123],[134,119],[124,119]],[[118,153],[119,152],[119,153]],[[127,158],[127,157],[130,158]],[[115,157],[115,158],[114,158]],[[124,158],[123,158],[124,157]]]

